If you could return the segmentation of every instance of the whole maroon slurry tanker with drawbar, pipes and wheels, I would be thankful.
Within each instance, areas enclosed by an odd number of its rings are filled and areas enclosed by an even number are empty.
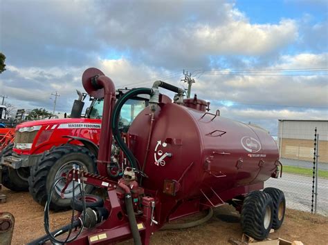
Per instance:
[[[284,194],[276,188],[262,190],[266,179],[280,172],[277,146],[265,130],[221,117],[219,111],[208,112],[206,101],[184,99],[183,89],[163,81],[134,88],[118,100],[113,82],[98,69],[86,70],[82,83],[90,95],[104,92],[98,174],[73,166],[53,183],[51,192],[61,181],[66,182],[62,193],[69,184],[79,186],[81,194],[71,202],[79,213],[71,224],[51,233],[47,204],[47,235],[33,244],[113,244],[131,237],[135,244],[149,244],[152,233],[165,223],[225,203],[241,213],[243,232],[255,239],[280,228]],[[174,92],[173,100],[159,88]],[[138,95],[149,95],[149,106],[122,137],[122,106]],[[113,143],[128,165],[118,180],[107,171],[115,161]],[[104,188],[107,195],[87,195],[84,184]]]

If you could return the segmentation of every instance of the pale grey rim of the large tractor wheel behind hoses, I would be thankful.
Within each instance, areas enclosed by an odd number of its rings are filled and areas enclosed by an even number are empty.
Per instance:
[[[60,169],[57,171],[57,173],[55,175],[55,179],[62,177],[63,174],[67,175],[69,173],[69,171],[73,168],[73,164],[78,164],[78,166],[80,166],[80,169],[81,168],[86,169],[86,166],[85,166],[85,164],[82,163],[82,161],[68,161],[68,162],[66,162],[66,164],[61,166]],[[62,189],[64,188],[65,184],[66,184],[66,181],[64,179],[62,179],[55,186],[55,190],[58,195],[61,195]],[[84,184],[84,188],[85,188],[85,186],[86,186],[86,184]],[[80,194],[80,188],[78,186],[78,182],[75,182],[74,195],[79,195],[79,194]],[[73,197],[73,182],[69,183],[69,185],[67,186],[67,188],[64,192],[64,198],[72,198],[72,197]]]

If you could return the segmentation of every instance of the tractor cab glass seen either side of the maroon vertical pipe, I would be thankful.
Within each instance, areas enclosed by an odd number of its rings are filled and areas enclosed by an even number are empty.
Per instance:
[[[103,100],[95,100],[90,106],[89,118],[102,118]],[[146,107],[145,100],[129,99],[121,109],[120,126],[130,126],[141,110]]]

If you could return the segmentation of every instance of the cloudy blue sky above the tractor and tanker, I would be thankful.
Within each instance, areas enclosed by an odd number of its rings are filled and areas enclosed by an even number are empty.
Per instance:
[[[283,1],[0,1],[0,94],[69,112],[88,67],[122,86],[192,88],[212,110],[277,133],[277,119],[328,119],[328,6]],[[184,85],[185,86],[185,85]]]

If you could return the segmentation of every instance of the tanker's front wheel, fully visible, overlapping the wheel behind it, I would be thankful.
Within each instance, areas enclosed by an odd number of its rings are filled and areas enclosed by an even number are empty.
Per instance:
[[[249,193],[242,206],[243,232],[259,241],[268,237],[273,223],[273,209],[270,195],[259,190]]]

